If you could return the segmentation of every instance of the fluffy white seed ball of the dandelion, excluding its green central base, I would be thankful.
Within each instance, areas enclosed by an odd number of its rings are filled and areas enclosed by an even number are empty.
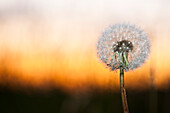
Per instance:
[[[121,30],[121,31],[120,31]],[[119,47],[118,42],[124,41]],[[127,44],[132,45],[126,46]],[[100,36],[97,42],[97,55],[99,59],[111,70],[119,69],[116,61],[111,61],[114,53],[128,52],[128,67],[126,71],[136,69],[147,59],[150,52],[150,41],[146,33],[131,24],[116,24],[109,26]],[[118,51],[113,49],[118,47]],[[125,48],[124,48],[125,47]]]

